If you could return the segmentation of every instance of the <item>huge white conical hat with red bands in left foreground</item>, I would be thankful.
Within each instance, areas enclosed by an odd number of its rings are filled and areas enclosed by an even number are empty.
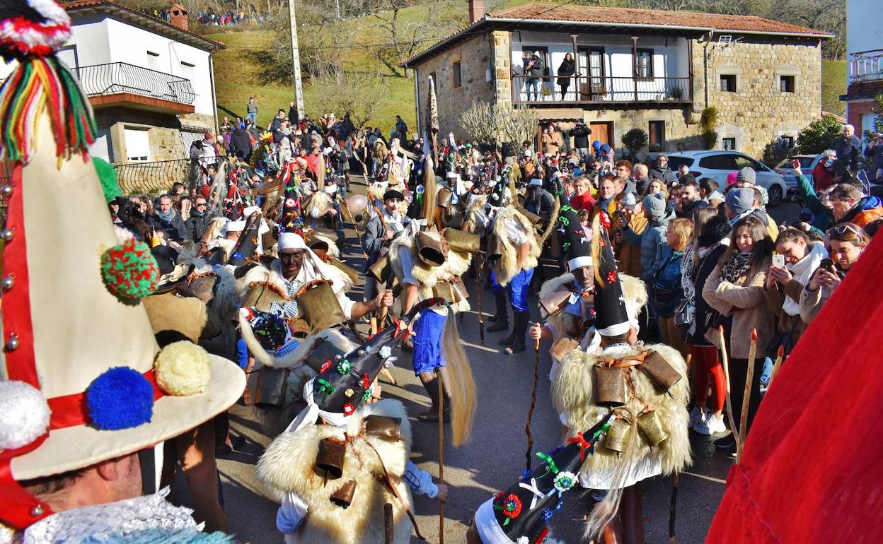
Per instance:
[[[82,407],[87,406],[85,392],[95,378],[109,369],[128,367],[149,382],[160,350],[145,309],[120,302],[102,283],[100,259],[117,245],[117,238],[92,161],[79,154],[57,159],[47,113],[36,127],[34,155],[11,181],[7,229],[14,231],[7,233],[4,248],[0,382],[22,380],[35,371],[52,414],[48,436],[30,441],[42,443],[12,458],[11,473],[17,481],[64,473],[161,443],[223,412],[245,388],[245,375],[236,364],[208,355],[210,364],[205,367],[211,375],[202,392],[172,396],[154,386],[149,421],[120,430],[95,427],[89,408]],[[15,277],[10,284],[5,280],[11,274]],[[17,341],[10,342],[13,334]],[[130,399],[120,397],[116,407],[129,409]],[[0,408],[3,405],[0,399]],[[0,438],[2,433],[0,428]]]

